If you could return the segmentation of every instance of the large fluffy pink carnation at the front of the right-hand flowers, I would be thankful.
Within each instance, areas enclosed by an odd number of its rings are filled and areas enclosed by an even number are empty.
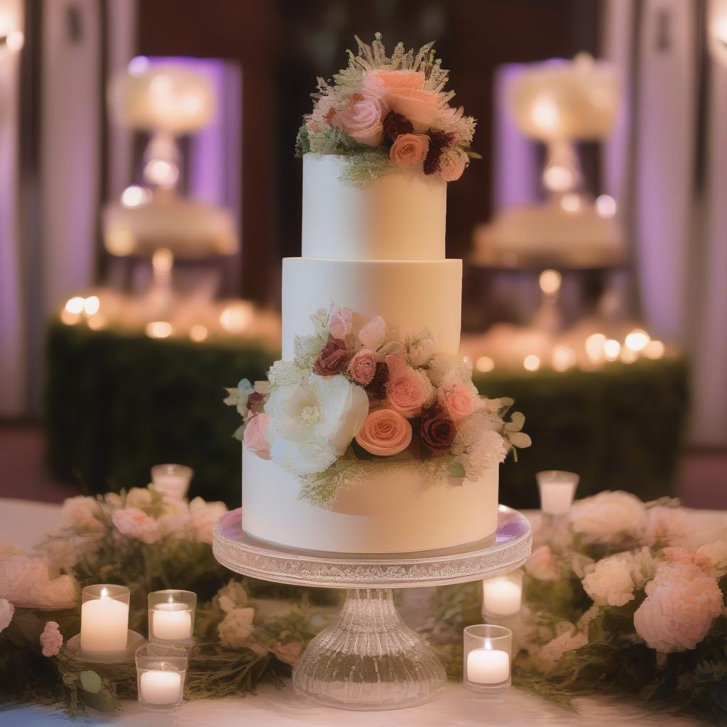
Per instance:
[[[664,654],[695,648],[722,613],[715,577],[692,563],[662,563],[646,585],[634,627],[646,646]]]

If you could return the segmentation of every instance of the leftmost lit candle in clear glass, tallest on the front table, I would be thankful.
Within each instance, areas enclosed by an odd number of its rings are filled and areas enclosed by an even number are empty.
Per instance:
[[[81,592],[81,651],[114,653],[126,650],[129,636],[129,589],[100,583]]]

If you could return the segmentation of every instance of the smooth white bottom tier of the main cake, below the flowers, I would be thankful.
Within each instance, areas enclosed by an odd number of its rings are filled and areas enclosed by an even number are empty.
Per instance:
[[[497,529],[498,468],[480,481],[427,486],[416,471],[374,475],[332,510],[300,500],[300,482],[275,462],[242,456],[242,529],[287,547],[334,553],[411,553],[485,539]]]

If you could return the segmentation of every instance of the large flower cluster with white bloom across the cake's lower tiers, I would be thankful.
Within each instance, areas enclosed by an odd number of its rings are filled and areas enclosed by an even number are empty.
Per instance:
[[[428,331],[401,335],[381,316],[320,308],[313,334],[295,338],[293,361],[267,382],[228,389],[249,451],[302,481],[323,507],[381,467],[419,467],[433,484],[476,482],[510,449],[530,446],[511,399],[488,399],[472,366],[442,353]],[[378,468],[378,469],[377,469]]]

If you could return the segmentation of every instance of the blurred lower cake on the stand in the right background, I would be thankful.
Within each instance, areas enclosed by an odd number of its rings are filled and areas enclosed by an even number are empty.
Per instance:
[[[619,222],[591,203],[575,212],[555,204],[513,207],[475,230],[473,262],[483,265],[599,268],[623,260]]]

